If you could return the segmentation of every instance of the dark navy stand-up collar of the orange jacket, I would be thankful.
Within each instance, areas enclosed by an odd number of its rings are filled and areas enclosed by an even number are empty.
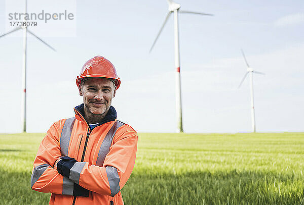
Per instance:
[[[85,121],[88,124],[88,122],[85,120],[85,117],[84,117],[85,116],[85,105],[84,104],[76,106],[74,108],[74,112],[75,112],[76,119]],[[102,125],[104,123],[107,123],[107,122],[114,121],[114,120],[116,120],[116,118],[117,118],[116,110],[113,106],[110,106],[109,111],[107,112],[106,116],[102,119],[102,121],[98,123],[98,126]]]

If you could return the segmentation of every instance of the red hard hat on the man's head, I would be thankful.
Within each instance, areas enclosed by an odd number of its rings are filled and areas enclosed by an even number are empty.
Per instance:
[[[77,76],[76,84],[79,87],[83,78],[102,77],[115,79],[116,89],[120,86],[120,79],[113,64],[102,56],[95,56],[87,61]]]

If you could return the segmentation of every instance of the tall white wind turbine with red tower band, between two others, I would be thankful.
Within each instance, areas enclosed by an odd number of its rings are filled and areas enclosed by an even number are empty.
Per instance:
[[[199,15],[208,15],[213,16],[212,14],[192,12],[192,11],[183,11],[180,10],[180,4],[173,2],[172,0],[167,0],[169,5],[169,12],[167,13],[165,22],[163,23],[159,33],[156,36],[156,39],[153,42],[153,45],[150,48],[150,52],[153,49],[157,39],[159,38],[165,24],[167,23],[170,15],[174,13],[174,57],[175,57],[175,68],[176,68],[176,85],[175,85],[175,97],[176,97],[176,118],[177,118],[177,132],[183,132],[182,129],[182,112],[181,112],[181,90],[180,90],[180,62],[179,62],[179,39],[178,39],[178,13],[187,13],[187,14],[199,14]]]

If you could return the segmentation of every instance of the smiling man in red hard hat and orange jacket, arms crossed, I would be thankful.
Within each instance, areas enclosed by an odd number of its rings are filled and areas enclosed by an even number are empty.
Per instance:
[[[76,80],[84,104],[48,130],[34,160],[31,188],[51,192],[49,204],[124,204],[120,190],[134,167],[137,133],[116,119],[115,67],[96,56]]]

